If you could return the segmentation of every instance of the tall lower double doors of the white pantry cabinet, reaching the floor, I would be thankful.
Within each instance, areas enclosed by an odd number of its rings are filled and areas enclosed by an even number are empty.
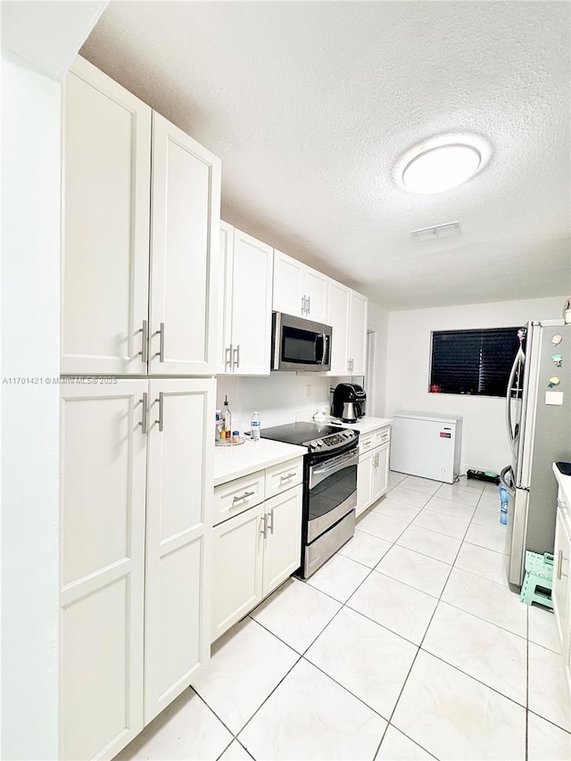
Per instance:
[[[62,385],[62,758],[114,757],[209,658],[214,388]]]

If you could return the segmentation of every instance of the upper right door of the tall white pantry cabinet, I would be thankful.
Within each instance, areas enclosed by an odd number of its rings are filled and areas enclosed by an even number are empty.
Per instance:
[[[153,112],[150,367],[213,375],[220,161]]]

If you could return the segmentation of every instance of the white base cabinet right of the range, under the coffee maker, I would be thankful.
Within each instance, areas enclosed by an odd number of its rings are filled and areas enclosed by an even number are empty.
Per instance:
[[[386,492],[389,477],[390,430],[387,426],[362,434],[357,467],[357,508],[360,516]]]

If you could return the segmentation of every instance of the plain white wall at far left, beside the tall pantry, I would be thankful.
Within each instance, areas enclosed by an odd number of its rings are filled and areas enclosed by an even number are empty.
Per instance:
[[[60,90],[3,54],[2,375],[59,376]],[[3,758],[58,757],[58,387],[2,385]]]

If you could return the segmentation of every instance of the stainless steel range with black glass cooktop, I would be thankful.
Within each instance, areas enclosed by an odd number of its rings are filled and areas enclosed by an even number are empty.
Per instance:
[[[262,429],[277,442],[309,449],[303,458],[302,567],[307,579],[355,532],[359,432],[318,423]]]

